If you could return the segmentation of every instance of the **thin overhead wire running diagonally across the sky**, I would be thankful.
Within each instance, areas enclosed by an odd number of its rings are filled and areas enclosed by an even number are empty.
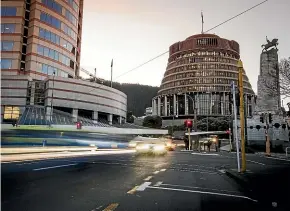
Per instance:
[[[264,1],[262,1],[262,2],[260,2],[260,3],[258,3],[258,4],[256,4],[256,5],[254,5],[254,6],[252,6],[252,7],[250,7],[249,9],[244,10],[243,12],[241,12],[241,13],[239,13],[239,14],[237,14],[237,15],[235,15],[235,16],[233,16],[233,17],[231,17],[231,18],[229,18],[229,19],[227,19],[227,20],[225,20],[225,21],[223,21],[222,23],[220,23],[220,24],[218,24],[218,25],[216,25],[216,26],[214,26],[214,27],[212,27],[212,28],[206,30],[205,33],[209,32],[209,31],[211,31],[211,30],[213,30],[213,29],[216,29],[217,27],[219,27],[219,26],[221,26],[221,25],[223,25],[223,24],[225,24],[225,23],[227,23],[227,22],[229,22],[229,21],[231,21],[231,20],[233,20],[233,19],[235,19],[235,18],[237,18],[237,17],[239,17],[239,16],[241,16],[241,15],[243,15],[243,14],[249,12],[249,11],[251,11],[252,9],[254,9],[254,8],[258,7],[258,6],[261,6],[262,4],[266,3],[267,1],[269,1],[269,0],[264,0]],[[134,67],[133,69],[130,69],[130,70],[128,70],[128,71],[126,71],[126,72],[124,72],[124,73],[118,75],[118,76],[115,77],[114,79],[120,78],[120,77],[122,77],[122,76],[124,76],[124,75],[126,75],[126,74],[128,74],[128,73],[130,73],[130,72],[132,72],[132,71],[135,71],[135,70],[139,69],[140,67],[142,67],[142,66],[144,66],[144,65],[146,65],[146,64],[148,64],[148,63],[150,63],[150,62],[152,62],[152,61],[154,61],[154,60],[156,60],[156,59],[158,59],[159,57],[161,57],[161,56],[167,54],[168,52],[169,52],[169,51],[165,51],[165,52],[159,54],[158,56],[155,56],[155,57],[153,57],[152,59],[150,59],[150,60],[148,60],[148,61],[146,61],[146,62],[144,62],[144,63],[142,63],[142,64],[140,64],[140,65],[138,65],[138,66],[136,66],[136,67]],[[93,91],[94,89],[100,88],[101,86],[103,86],[103,84],[100,84],[100,86],[94,87],[94,88],[93,88],[92,90],[90,90],[89,92]]]

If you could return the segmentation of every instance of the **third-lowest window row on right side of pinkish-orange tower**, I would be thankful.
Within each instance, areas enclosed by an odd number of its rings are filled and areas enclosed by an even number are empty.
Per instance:
[[[62,23],[59,19],[53,17],[52,15],[41,12],[40,20],[48,23],[49,25],[52,25],[57,29],[61,29],[65,34],[69,35],[74,40],[77,39],[77,34],[70,27],[68,27],[65,23]]]

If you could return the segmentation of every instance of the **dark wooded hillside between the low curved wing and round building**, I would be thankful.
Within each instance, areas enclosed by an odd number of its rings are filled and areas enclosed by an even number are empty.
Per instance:
[[[110,86],[110,81],[104,81]],[[132,111],[134,116],[143,116],[145,108],[151,107],[152,98],[156,96],[159,87],[141,84],[120,84],[113,82],[113,88],[124,92],[128,97],[128,111]]]

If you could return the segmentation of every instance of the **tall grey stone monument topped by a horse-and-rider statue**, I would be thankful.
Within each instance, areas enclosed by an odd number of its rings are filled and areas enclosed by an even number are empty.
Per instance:
[[[260,57],[260,73],[258,76],[258,93],[256,112],[270,112],[278,115],[281,112],[281,96],[279,90],[279,62],[278,62],[278,39],[262,45]]]

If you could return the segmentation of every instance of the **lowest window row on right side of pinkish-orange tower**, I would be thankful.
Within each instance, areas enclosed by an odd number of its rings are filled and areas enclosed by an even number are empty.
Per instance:
[[[42,55],[42,56],[46,56],[46,57],[49,57],[49,58],[54,59],[56,61],[59,61],[62,64],[74,69],[74,61],[72,61],[70,58],[59,53],[56,50],[47,48],[47,47],[42,46],[42,45],[37,45],[37,53]]]

